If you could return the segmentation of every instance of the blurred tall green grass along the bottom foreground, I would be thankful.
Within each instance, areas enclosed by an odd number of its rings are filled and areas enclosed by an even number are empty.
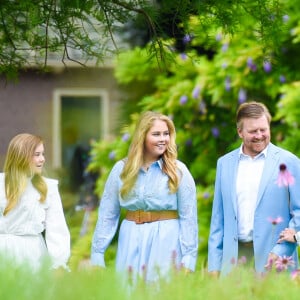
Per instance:
[[[178,271],[156,284],[145,284],[141,279],[130,289],[113,268],[32,273],[2,263],[0,282],[2,300],[290,300],[299,299],[300,293],[300,282],[287,272],[258,276],[246,267],[219,279],[209,277],[204,269],[192,274]]]

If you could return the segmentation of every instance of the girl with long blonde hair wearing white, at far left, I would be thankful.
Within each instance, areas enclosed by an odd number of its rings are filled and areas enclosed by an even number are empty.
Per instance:
[[[58,181],[42,176],[44,163],[40,137],[22,133],[11,140],[0,173],[0,259],[32,271],[44,263],[68,269],[70,234]]]

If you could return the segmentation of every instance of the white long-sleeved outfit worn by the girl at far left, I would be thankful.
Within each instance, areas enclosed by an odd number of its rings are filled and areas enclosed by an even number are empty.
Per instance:
[[[70,233],[67,227],[58,181],[45,178],[48,194],[45,203],[28,180],[18,205],[3,216],[7,200],[4,174],[0,173],[0,259],[29,264],[36,270],[46,261],[53,268],[67,268]],[[45,237],[42,232],[45,231]]]

